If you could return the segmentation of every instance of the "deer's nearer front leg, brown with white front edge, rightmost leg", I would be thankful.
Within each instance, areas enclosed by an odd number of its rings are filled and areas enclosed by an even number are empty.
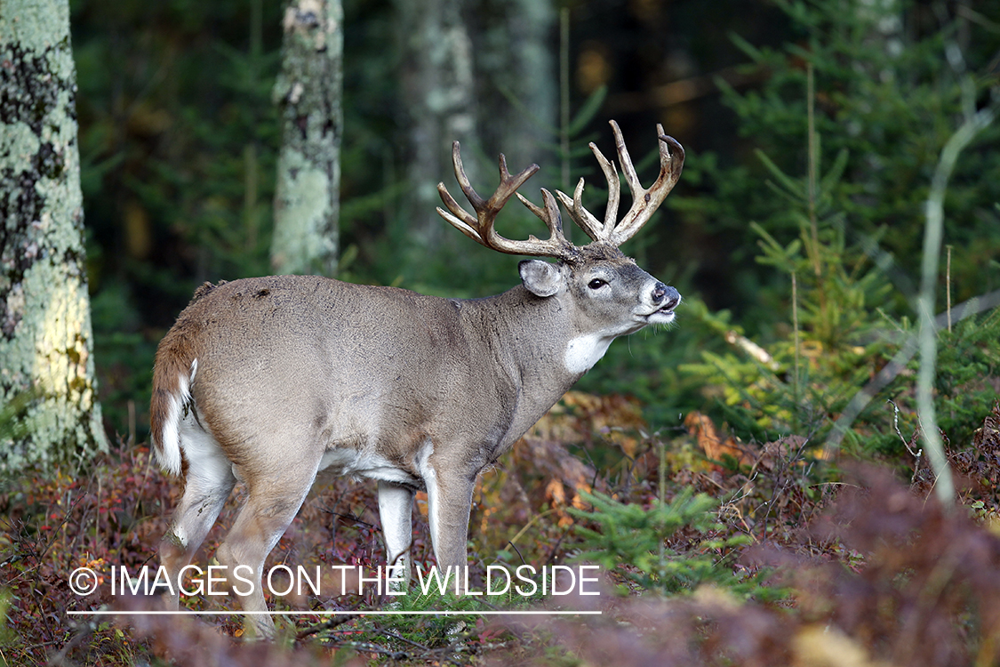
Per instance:
[[[469,511],[472,509],[476,475],[461,469],[450,469],[447,463],[435,465],[433,459],[427,473],[424,482],[427,485],[427,515],[434,557],[442,572],[452,568],[459,575],[459,583],[464,584]]]

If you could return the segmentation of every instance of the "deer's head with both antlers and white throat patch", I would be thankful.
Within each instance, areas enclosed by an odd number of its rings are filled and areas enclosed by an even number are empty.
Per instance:
[[[567,367],[577,372],[588,370],[614,338],[634,333],[648,324],[672,322],[674,308],[680,302],[676,290],[653,279],[618,250],[618,246],[632,238],[649,221],[677,184],[684,167],[684,148],[676,139],[664,134],[662,125],[656,126],[660,173],[653,185],[646,189],[639,182],[618,123],[611,121],[610,124],[618,160],[632,193],[632,207],[624,217],[617,219],[621,199],[618,171],[593,143],[590,150],[597,158],[608,184],[608,203],[603,222],[583,206],[584,179],[577,183],[572,197],[556,190],[572,220],[592,239],[589,245],[578,247],[566,240],[559,207],[551,192],[542,188],[544,205],[538,207],[517,191],[538,171],[538,165],[533,164],[512,176],[507,170],[506,159],[500,155],[500,185],[489,199],[484,199],[469,183],[456,141],[452,145],[455,178],[476,215],[463,209],[444,183],[438,184],[438,192],[448,209],[438,208],[438,213],[469,238],[503,253],[559,260],[555,265],[542,261],[522,262],[520,272],[524,287],[532,294],[550,297],[560,290],[570,291],[576,309],[591,315],[592,321],[580,326],[581,331],[586,333],[581,334],[579,340],[570,346],[571,351],[567,352]],[[497,233],[497,214],[512,195],[516,195],[545,223],[549,229],[548,239],[530,236],[526,241],[512,241]],[[635,301],[631,309],[632,317],[623,317],[625,311],[622,304],[627,304],[630,298]]]

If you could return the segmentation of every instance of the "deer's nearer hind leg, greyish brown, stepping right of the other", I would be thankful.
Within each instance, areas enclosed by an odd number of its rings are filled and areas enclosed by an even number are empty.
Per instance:
[[[244,628],[256,637],[274,635],[274,622],[267,613],[262,587],[264,560],[302,507],[319,465],[318,460],[311,463],[296,460],[287,443],[275,445],[270,451],[288,455],[289,465],[271,460],[269,465],[258,467],[253,475],[239,471],[247,479],[249,497],[216,552],[229,578],[229,590],[239,597],[243,610],[250,612]],[[295,463],[302,465],[292,465]],[[252,588],[247,581],[252,582]]]

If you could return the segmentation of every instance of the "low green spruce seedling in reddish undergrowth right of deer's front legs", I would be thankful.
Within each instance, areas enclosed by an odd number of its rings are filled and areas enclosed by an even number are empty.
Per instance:
[[[682,490],[669,503],[654,502],[650,507],[620,503],[599,493],[580,494],[593,511],[569,508],[569,512],[596,525],[577,524],[582,552],[578,560],[602,565],[621,574],[647,591],[672,595],[711,584],[741,596],[765,594],[757,577],[738,579],[732,570],[737,547],[749,543],[746,536],[726,536],[712,510],[718,504],[705,494]],[[665,546],[678,532],[692,542],[684,553]]]

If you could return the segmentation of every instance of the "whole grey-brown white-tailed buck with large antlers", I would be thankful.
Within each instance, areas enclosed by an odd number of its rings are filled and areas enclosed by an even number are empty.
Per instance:
[[[680,178],[684,149],[657,125],[660,171],[639,182],[618,124],[618,161],[632,195],[619,220],[618,170],[593,143],[607,180],[604,219],[542,188],[542,206],[518,189],[539,167],[511,175],[488,198],[469,183],[456,141],[455,178],[465,210],[443,183],[447,222],[486,248],[531,257],[521,283],[480,299],[425,296],[318,277],[245,278],[199,287],[160,342],[150,404],[155,455],[186,486],[159,545],[175,582],[237,481],[246,500],[216,551],[227,572],[252,572],[241,593],[245,625],[274,633],[261,590],[268,554],[317,474],[375,480],[386,561],[410,575],[414,494],[426,491],[439,568],[467,565],[469,514],[480,472],[508,451],[618,337],[675,319],[681,296],[618,247],[635,235]],[[510,240],[495,220],[516,195],[548,239]],[[567,240],[556,201],[591,242]],[[545,258],[545,259],[543,259]],[[554,261],[546,261],[554,260]],[[236,583],[228,580],[231,588]]]

